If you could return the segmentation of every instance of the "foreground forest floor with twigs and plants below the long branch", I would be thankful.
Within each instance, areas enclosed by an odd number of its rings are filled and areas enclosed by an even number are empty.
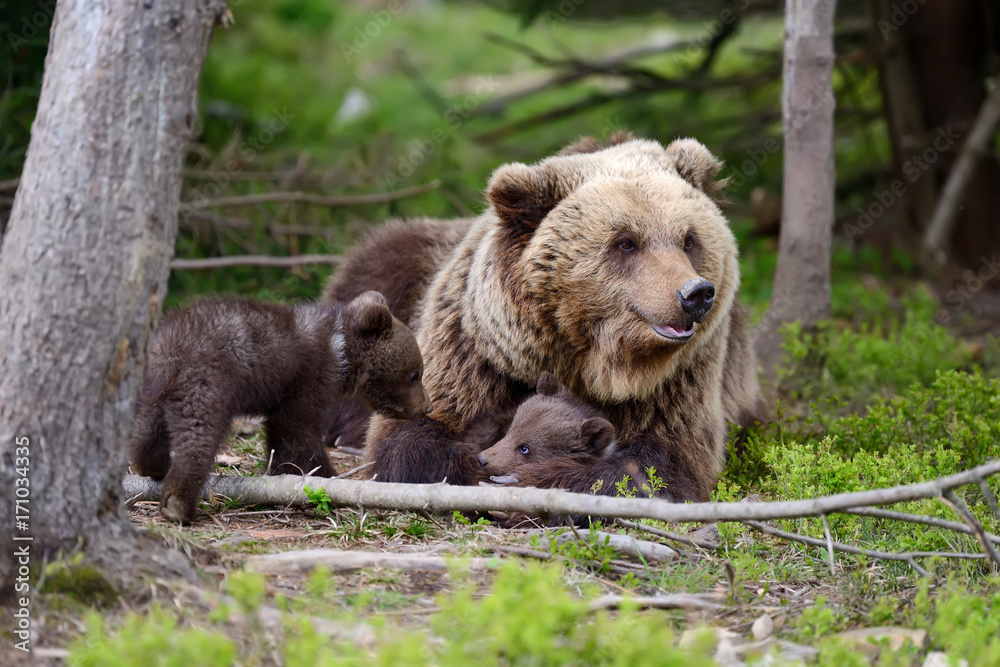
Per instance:
[[[234,434],[217,472],[261,474],[260,440],[252,428]],[[338,470],[361,463],[336,450],[331,458]],[[594,535],[557,542],[571,528],[504,529],[458,513],[236,507],[218,498],[202,510],[179,527],[159,517],[156,502],[130,509],[137,528],[190,558],[196,585],[158,579],[109,595],[81,583],[72,560],[49,565],[32,659],[9,654],[4,664],[136,665],[154,655],[163,658],[155,664],[177,665],[946,664],[933,662],[948,648],[934,639],[944,612],[926,598],[940,607],[981,591],[992,600],[976,608],[981,615],[1000,601],[997,582],[979,574],[921,581],[896,563],[843,555],[831,572],[825,551],[738,525],[716,535],[717,549],[665,542],[685,555],[647,562]],[[618,525],[609,532],[656,539]],[[345,571],[261,574],[251,565],[319,548],[432,558]],[[679,608],[594,608],[604,596],[680,593],[690,599]],[[961,612],[963,622],[976,623],[972,612]]]

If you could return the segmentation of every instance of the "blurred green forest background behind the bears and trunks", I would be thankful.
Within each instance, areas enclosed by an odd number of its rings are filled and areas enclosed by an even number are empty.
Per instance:
[[[235,24],[216,31],[202,76],[178,258],[340,253],[373,221],[478,212],[502,162],[535,161],[580,135],[628,128],[663,142],[694,136],[725,160],[744,298],[763,312],[781,213],[782,3],[230,6]],[[53,7],[41,2],[31,14],[23,3],[0,3],[0,28],[13,47],[0,58],[0,220],[28,143]],[[996,10],[985,0],[838,3],[835,315],[856,318],[859,307],[882,308],[901,282],[933,278],[941,305],[961,311],[938,314],[938,323],[998,330],[1000,306],[989,294],[1000,245],[995,152],[977,165],[951,270],[925,274],[917,252],[996,68]],[[278,190],[383,192],[435,180],[440,187],[419,196],[368,206],[209,201]],[[168,306],[221,290],[315,297],[329,272],[175,271]]]

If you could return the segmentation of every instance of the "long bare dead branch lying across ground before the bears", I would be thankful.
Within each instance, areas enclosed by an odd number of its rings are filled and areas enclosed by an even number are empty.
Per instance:
[[[996,568],[1000,565],[1000,555],[994,545],[1000,544],[1000,537],[987,532],[983,525],[959,500],[955,489],[967,485],[980,485],[987,477],[1000,473],[1000,461],[984,465],[929,482],[895,486],[886,489],[858,491],[833,496],[823,496],[810,500],[793,500],[760,503],[694,503],[676,504],[662,499],[618,498],[569,493],[558,489],[536,489],[518,487],[472,487],[448,484],[391,484],[375,481],[352,481],[280,475],[267,477],[220,477],[212,476],[206,488],[206,495],[225,496],[244,505],[281,505],[286,507],[306,507],[309,502],[303,487],[322,488],[334,507],[360,507],[384,510],[415,510],[425,512],[513,512],[532,516],[591,516],[603,519],[653,519],[665,523],[721,522],[735,521],[749,525],[760,532],[781,539],[799,542],[828,550],[831,564],[833,553],[841,551],[864,555],[881,560],[908,563],[918,573],[930,576],[921,567],[918,558],[987,559]],[[137,499],[155,499],[160,491],[160,483],[149,478],[128,475],[124,480],[125,496],[130,502]],[[889,505],[920,499],[940,499],[955,511],[964,523],[949,522],[935,517],[920,517],[882,510],[874,505]],[[834,513],[867,515],[888,520],[901,520],[926,524],[973,535],[983,548],[983,553],[955,551],[926,551],[888,553],[842,544],[826,531],[826,539],[817,539],[779,530],[763,523],[773,519],[794,519],[807,517],[824,518]],[[630,526],[628,522],[625,525]],[[651,534],[658,529],[641,526],[641,530]],[[584,531],[574,531],[578,539]],[[661,531],[662,537],[676,539],[673,533]],[[570,535],[573,537],[574,535]],[[565,538],[569,539],[569,538]],[[631,540],[631,538],[627,538]],[[681,540],[683,541],[683,540]],[[691,540],[694,546],[701,546]],[[658,545],[662,547],[662,545]],[[662,547],[666,549],[667,547]],[[646,554],[643,557],[648,559]]]

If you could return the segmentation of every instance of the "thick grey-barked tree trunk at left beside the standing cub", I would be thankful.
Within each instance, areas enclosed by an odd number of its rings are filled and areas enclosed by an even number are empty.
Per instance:
[[[30,546],[37,567],[57,549],[113,561],[134,543],[125,442],[166,290],[198,77],[224,10],[221,0],[56,7],[0,250],[5,583],[15,547]],[[23,477],[30,505],[15,517]]]

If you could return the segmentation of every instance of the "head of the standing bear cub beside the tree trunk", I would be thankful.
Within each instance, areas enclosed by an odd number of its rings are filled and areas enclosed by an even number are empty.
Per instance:
[[[343,347],[353,393],[372,410],[393,419],[431,411],[417,339],[379,292],[365,292],[344,307]]]

